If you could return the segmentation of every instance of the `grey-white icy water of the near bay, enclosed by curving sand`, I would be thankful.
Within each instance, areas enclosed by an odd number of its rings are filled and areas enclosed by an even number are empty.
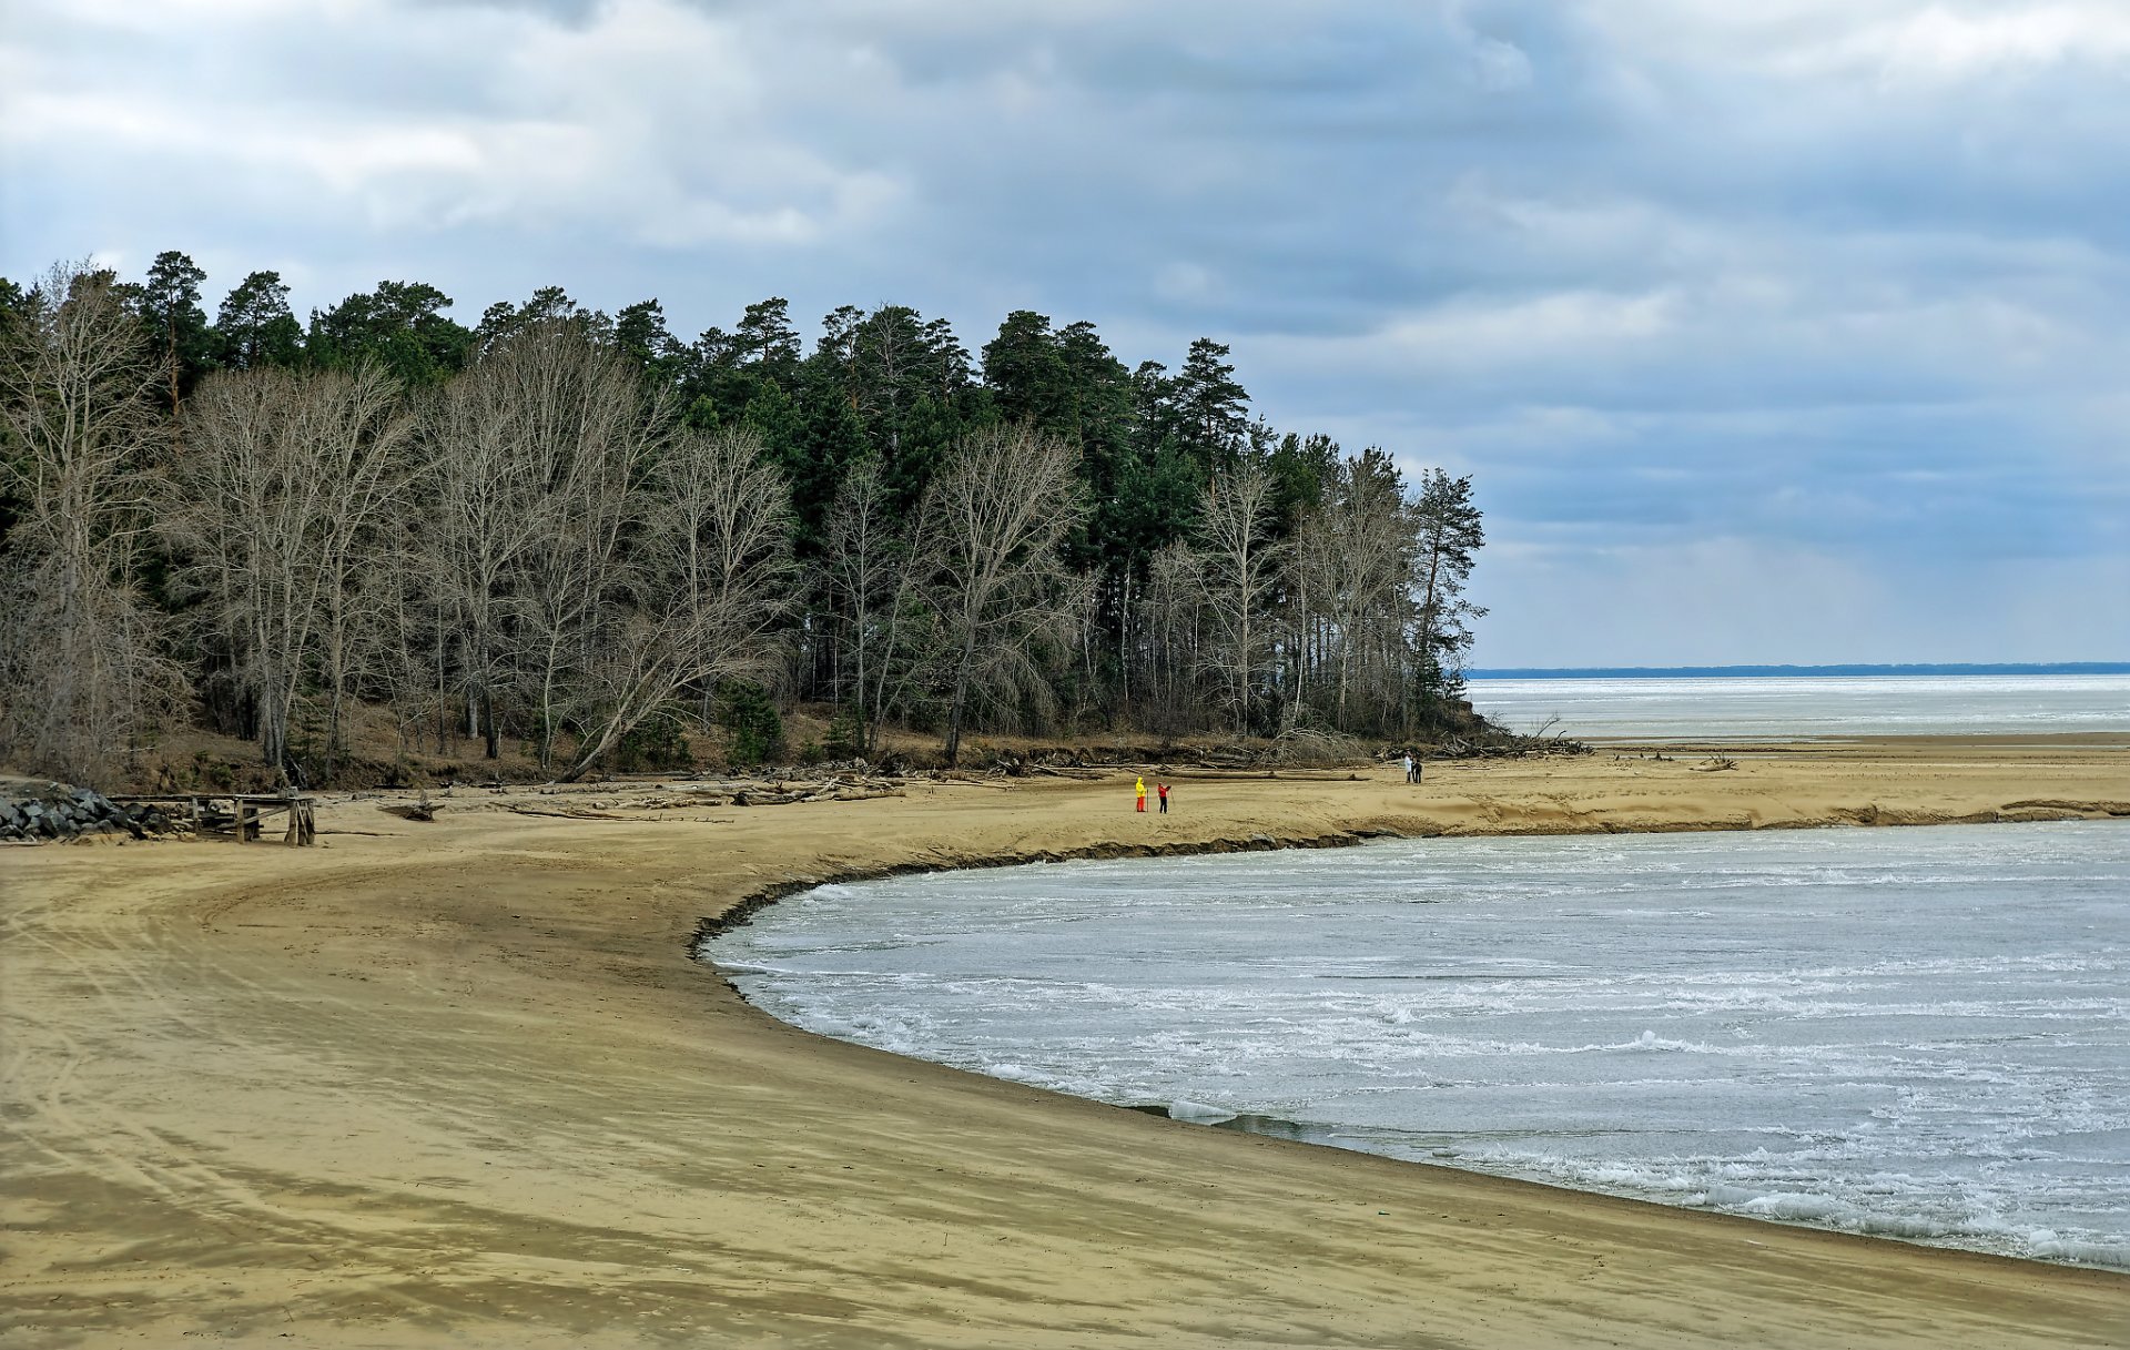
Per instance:
[[[2130,1267],[2130,824],[935,873],[707,948],[833,1037],[1178,1118]]]

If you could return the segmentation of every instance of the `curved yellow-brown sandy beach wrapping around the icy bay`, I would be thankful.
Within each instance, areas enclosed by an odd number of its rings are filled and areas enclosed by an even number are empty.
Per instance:
[[[1681,754],[1182,777],[1169,816],[1129,775],[460,788],[332,801],[315,850],[0,850],[0,1344],[2130,1344],[2117,1273],[1159,1120],[799,1033],[688,958],[890,867],[2130,816],[2130,737]],[[520,813],[560,809],[601,818]]]

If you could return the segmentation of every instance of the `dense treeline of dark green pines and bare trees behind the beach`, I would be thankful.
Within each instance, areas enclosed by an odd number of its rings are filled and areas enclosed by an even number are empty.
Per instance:
[[[0,760],[94,777],[155,726],[330,775],[403,747],[552,773],[837,709],[884,726],[1410,737],[1459,692],[1470,481],[1278,434],[1227,347],[784,300],[694,343],[560,290],[422,283],[309,322],[275,273],[0,281]],[[767,745],[754,745],[765,752]]]

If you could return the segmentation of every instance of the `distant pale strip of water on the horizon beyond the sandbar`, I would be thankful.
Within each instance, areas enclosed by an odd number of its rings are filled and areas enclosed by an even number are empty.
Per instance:
[[[1472,679],[1510,730],[1608,739],[2130,732],[2130,675]]]

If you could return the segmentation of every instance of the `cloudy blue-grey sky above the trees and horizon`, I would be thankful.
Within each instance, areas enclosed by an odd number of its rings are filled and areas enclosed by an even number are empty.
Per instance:
[[[2130,658],[2124,0],[0,0],[0,275],[1231,345],[1478,666]]]

